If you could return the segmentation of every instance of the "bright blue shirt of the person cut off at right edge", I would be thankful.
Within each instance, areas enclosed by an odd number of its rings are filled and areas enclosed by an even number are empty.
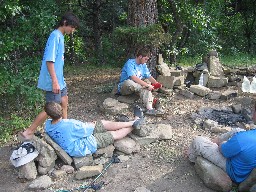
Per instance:
[[[243,182],[256,168],[256,130],[236,133],[221,145],[221,152],[227,158],[226,171],[230,178]]]

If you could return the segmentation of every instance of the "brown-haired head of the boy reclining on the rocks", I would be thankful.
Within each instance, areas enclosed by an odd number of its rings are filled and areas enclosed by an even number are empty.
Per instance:
[[[53,120],[58,120],[62,116],[62,107],[56,102],[47,102],[44,106],[44,110]]]

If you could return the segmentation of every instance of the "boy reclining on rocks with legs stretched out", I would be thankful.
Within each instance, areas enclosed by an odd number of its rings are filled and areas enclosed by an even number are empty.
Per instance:
[[[75,119],[63,119],[59,103],[46,103],[45,112],[51,119],[45,123],[45,132],[64,151],[72,157],[83,157],[96,152],[122,139],[133,129],[138,129],[143,120],[143,112],[134,108],[134,120],[128,122],[81,122]]]

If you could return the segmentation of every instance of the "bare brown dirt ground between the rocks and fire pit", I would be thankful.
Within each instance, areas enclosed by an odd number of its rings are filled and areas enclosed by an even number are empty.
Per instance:
[[[99,106],[104,99],[111,96],[109,90],[118,81],[119,72],[120,70],[104,70],[96,76],[68,77],[69,118],[82,121],[113,120],[114,117],[101,113]],[[104,182],[99,191],[133,192],[139,187],[145,187],[151,192],[212,192],[204,186],[193,165],[184,156],[184,150],[196,135],[214,136],[197,128],[191,119],[191,113],[203,106],[229,106],[235,100],[212,101],[201,97],[188,99],[176,92],[165,99],[165,116],[148,117],[147,120],[151,123],[170,124],[173,138],[142,146],[140,152],[129,156],[129,160],[112,164],[96,182]],[[131,117],[131,114],[127,115]],[[27,191],[30,183],[18,179],[17,171],[9,162],[14,144],[15,140],[0,148],[1,192]],[[70,190],[90,181],[92,179],[77,181],[69,175],[54,181],[54,185],[45,191]]]

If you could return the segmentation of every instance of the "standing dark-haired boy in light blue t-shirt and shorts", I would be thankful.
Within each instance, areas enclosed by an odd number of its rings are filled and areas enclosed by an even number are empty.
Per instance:
[[[72,13],[62,16],[56,29],[50,34],[42,60],[40,75],[37,87],[45,91],[46,102],[54,101],[61,103],[63,108],[63,119],[67,118],[68,92],[63,75],[64,68],[64,35],[71,34],[79,26],[78,18]],[[33,123],[24,132],[19,133],[20,140],[29,140],[35,130],[47,118],[45,111],[42,111],[35,118]]]

